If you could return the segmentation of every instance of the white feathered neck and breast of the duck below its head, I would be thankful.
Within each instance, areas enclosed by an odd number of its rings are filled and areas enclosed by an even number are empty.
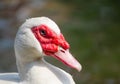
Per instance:
[[[23,84],[74,84],[68,73],[44,59],[25,64],[17,62],[17,66]]]

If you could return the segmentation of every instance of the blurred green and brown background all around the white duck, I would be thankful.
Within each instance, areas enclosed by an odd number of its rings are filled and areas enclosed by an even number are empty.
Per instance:
[[[120,84],[119,0],[0,0],[0,72],[17,71],[17,30],[27,18],[39,16],[59,25],[83,69],[46,60],[71,73],[76,84]]]

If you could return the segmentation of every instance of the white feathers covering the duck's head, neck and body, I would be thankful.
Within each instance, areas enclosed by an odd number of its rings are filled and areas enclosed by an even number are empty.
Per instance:
[[[57,35],[61,33],[56,23],[47,17],[26,20],[18,30],[14,45],[19,73],[0,74],[0,84],[75,84],[69,73],[44,60],[45,53],[31,31],[31,28],[41,24],[47,25]],[[73,59],[72,55],[70,59]],[[74,66],[81,70],[79,63]]]

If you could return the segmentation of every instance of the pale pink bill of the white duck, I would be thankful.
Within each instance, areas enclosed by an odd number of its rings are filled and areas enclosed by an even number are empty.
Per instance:
[[[52,55],[54,58],[62,61],[64,64],[78,71],[81,71],[81,64],[72,56],[69,50],[60,49],[58,52]]]

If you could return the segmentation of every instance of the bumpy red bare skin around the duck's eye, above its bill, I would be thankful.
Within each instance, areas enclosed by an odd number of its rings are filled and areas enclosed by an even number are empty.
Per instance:
[[[42,35],[40,33],[41,30],[44,30],[46,34]],[[70,48],[69,44],[62,34],[57,35],[46,25],[35,26],[32,28],[32,32],[40,42],[43,52],[46,55],[51,55],[57,52],[59,50],[59,46],[65,50]]]

